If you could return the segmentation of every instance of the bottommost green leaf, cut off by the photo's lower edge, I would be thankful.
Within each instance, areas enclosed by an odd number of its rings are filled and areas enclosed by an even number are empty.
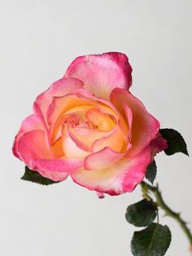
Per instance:
[[[140,232],[134,232],[131,250],[134,256],[163,256],[171,243],[168,226],[152,223]]]

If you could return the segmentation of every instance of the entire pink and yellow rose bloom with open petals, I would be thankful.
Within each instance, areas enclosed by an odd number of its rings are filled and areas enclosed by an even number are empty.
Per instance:
[[[132,192],[167,147],[159,121],[129,92],[132,68],[117,52],[76,58],[37,96],[15,136],[15,157],[42,176],[111,196]]]

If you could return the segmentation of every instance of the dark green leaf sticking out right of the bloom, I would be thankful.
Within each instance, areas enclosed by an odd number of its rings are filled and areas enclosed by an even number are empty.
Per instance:
[[[177,130],[160,129],[159,132],[168,141],[168,148],[164,149],[166,155],[171,156],[176,152],[182,152],[189,156],[185,140]]]

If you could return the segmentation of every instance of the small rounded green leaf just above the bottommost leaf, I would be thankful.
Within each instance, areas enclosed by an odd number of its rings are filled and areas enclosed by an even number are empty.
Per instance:
[[[154,221],[156,210],[157,208],[152,201],[143,199],[136,204],[129,205],[125,218],[136,227],[146,227]]]

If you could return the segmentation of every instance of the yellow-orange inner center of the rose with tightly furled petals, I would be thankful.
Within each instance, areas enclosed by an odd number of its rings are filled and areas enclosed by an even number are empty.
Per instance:
[[[60,140],[65,157],[85,157],[106,147],[120,152],[124,136],[117,120],[103,104],[68,108],[55,123],[50,144]]]

